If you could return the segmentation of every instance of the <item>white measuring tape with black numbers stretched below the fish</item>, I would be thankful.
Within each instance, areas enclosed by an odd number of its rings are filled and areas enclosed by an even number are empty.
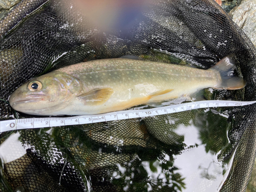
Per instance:
[[[132,119],[138,117],[151,117],[163,114],[178,113],[200,108],[212,108],[220,106],[243,106],[256,103],[256,101],[223,101],[206,100],[187,102],[163,106],[161,108],[152,108],[146,110],[126,110],[97,115],[81,115],[73,117],[45,117],[45,118],[27,118],[0,121],[0,133],[12,130],[34,129],[41,127],[65,126],[97,123],[113,120]]]

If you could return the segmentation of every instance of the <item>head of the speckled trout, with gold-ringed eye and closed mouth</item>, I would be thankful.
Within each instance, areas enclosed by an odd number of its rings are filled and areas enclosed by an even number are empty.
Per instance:
[[[31,79],[9,97],[12,108],[31,115],[46,115],[65,108],[81,91],[78,79],[54,71]]]

